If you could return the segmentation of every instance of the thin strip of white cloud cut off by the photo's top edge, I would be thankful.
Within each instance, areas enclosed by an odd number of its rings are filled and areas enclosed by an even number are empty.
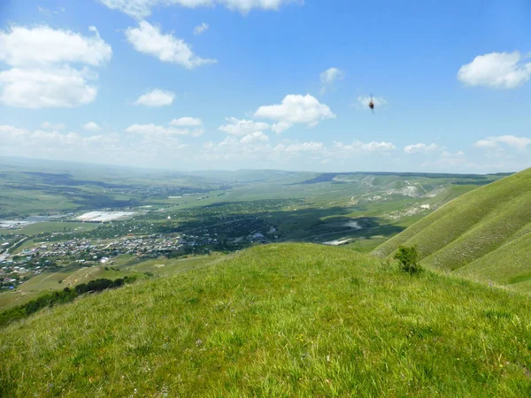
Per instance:
[[[240,11],[247,14],[254,8],[263,10],[278,10],[281,5],[289,3],[302,4],[303,0],[99,0],[112,10],[125,12],[127,15],[143,19],[149,17],[151,9],[157,5],[181,5],[182,7],[195,8],[200,6],[213,6],[221,4],[229,10]]]

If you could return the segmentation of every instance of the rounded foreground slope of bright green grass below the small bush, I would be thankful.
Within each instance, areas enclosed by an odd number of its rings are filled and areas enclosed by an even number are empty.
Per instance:
[[[531,303],[349,249],[281,244],[0,333],[0,395],[531,394]]]

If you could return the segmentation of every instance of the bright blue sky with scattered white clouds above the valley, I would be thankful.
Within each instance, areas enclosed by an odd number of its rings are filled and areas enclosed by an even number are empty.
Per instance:
[[[529,80],[528,0],[0,1],[0,157],[516,172]]]

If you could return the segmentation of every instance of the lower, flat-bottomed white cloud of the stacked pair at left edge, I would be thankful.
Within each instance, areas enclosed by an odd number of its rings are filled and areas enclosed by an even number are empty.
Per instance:
[[[22,108],[72,108],[91,103],[95,74],[68,66],[49,69],[12,68],[0,72],[0,103]]]

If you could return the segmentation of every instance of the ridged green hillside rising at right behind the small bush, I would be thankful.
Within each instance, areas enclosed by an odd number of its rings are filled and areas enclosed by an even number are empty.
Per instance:
[[[501,285],[531,279],[531,169],[459,196],[382,244],[418,245],[422,264]]]

